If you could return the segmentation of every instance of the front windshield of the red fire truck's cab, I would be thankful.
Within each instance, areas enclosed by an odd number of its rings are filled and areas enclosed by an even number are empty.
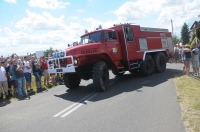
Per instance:
[[[103,32],[96,32],[81,38],[80,44],[95,43],[102,41]]]

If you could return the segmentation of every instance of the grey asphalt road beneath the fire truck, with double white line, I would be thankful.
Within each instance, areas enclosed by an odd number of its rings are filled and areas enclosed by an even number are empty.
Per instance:
[[[96,92],[92,80],[69,90],[57,86],[31,99],[1,102],[1,132],[184,132],[172,74],[180,64],[168,64],[164,73],[133,77],[110,73],[110,87]]]

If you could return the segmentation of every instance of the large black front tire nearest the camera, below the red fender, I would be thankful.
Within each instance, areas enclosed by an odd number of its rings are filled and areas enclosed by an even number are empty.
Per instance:
[[[109,72],[108,66],[104,61],[99,61],[94,64],[92,70],[93,85],[98,91],[104,92],[108,88]]]

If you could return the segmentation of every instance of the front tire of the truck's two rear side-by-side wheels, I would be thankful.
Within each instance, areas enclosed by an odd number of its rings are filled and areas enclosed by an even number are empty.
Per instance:
[[[151,55],[146,55],[142,69],[139,72],[142,76],[151,75],[154,72],[154,61]]]

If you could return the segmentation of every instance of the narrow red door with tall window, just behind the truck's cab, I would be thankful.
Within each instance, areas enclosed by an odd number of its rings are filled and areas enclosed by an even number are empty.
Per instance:
[[[137,55],[137,45],[134,41],[134,33],[131,26],[123,26],[124,31],[124,39],[125,39],[125,46],[126,46],[126,53],[127,53],[127,61],[136,60]]]

